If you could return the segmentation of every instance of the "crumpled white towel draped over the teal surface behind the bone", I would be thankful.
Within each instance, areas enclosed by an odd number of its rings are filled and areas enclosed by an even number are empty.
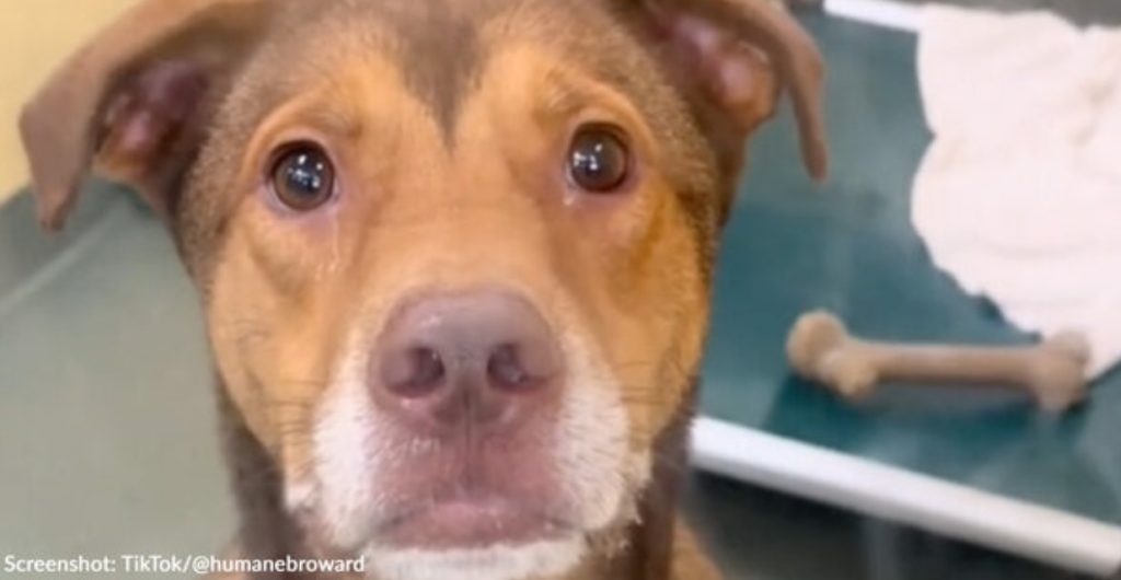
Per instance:
[[[1016,326],[1121,361],[1121,29],[1047,12],[924,9],[935,139],[912,221],[935,264]]]

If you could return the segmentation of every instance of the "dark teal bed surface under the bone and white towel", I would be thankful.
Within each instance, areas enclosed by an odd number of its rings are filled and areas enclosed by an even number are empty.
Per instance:
[[[889,385],[862,404],[793,377],[786,334],[826,308],[855,334],[1019,344],[1032,337],[964,294],[910,226],[910,185],[929,142],[916,37],[804,20],[828,63],[833,175],[815,186],[788,114],[756,139],[724,242],[704,371],[706,414],[1001,496],[1121,523],[1121,373],[1053,418],[1021,396]],[[966,208],[963,208],[966,211]]]

